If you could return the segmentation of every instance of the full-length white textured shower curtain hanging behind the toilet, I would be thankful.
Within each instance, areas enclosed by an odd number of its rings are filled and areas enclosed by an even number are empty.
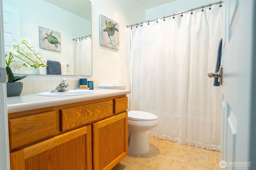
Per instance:
[[[131,110],[159,117],[159,139],[219,150],[221,89],[215,70],[222,8],[143,23],[130,32]]]

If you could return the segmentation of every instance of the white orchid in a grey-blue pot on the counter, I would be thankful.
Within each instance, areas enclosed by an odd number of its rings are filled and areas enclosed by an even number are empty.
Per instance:
[[[23,88],[22,80],[26,76],[14,76],[13,71],[20,70],[21,67],[47,66],[46,60],[43,58],[42,49],[30,47],[30,39],[26,36],[15,39],[13,43],[8,45],[4,50],[6,73],[7,73],[7,96],[20,96]]]

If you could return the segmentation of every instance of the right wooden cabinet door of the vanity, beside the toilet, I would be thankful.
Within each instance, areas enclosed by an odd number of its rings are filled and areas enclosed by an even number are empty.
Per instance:
[[[128,112],[92,125],[94,170],[111,170],[128,154]]]

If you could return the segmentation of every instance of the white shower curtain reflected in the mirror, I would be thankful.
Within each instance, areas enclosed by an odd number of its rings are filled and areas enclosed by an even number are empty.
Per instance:
[[[92,39],[90,37],[73,41],[75,56],[74,75],[92,75]]]

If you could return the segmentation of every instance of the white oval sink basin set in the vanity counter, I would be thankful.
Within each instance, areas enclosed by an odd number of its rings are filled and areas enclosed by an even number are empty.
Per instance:
[[[41,92],[36,95],[38,96],[81,96],[88,94],[96,94],[97,90],[69,90],[68,92]]]

